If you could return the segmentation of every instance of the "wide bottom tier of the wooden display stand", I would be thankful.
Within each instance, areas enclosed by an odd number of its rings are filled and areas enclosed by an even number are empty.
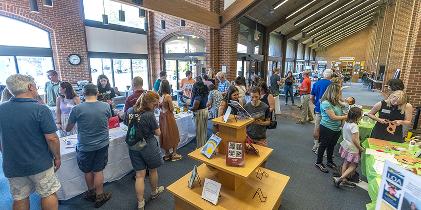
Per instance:
[[[247,164],[247,163],[246,163]],[[258,170],[264,171],[269,176],[256,177]],[[190,173],[183,176],[178,181],[169,185],[166,189],[174,194],[174,204],[176,210],[190,210],[190,209],[278,209],[282,201],[282,192],[290,177],[259,167],[253,172],[250,178],[244,180],[237,191],[227,190],[221,188],[221,197],[218,199],[218,204],[214,205],[202,199],[203,187],[199,185],[197,180],[193,184],[193,188],[187,187],[187,181],[190,178]],[[206,164],[201,164],[197,167],[198,174],[202,180],[202,185],[205,178],[217,180],[217,170],[213,170]],[[276,183],[276,184],[274,184]],[[222,184],[223,185],[223,184]],[[260,188],[265,202],[261,202],[259,195],[254,194]],[[260,192],[260,191],[259,191]],[[262,196],[262,195],[260,195]],[[261,199],[264,200],[262,197]]]

